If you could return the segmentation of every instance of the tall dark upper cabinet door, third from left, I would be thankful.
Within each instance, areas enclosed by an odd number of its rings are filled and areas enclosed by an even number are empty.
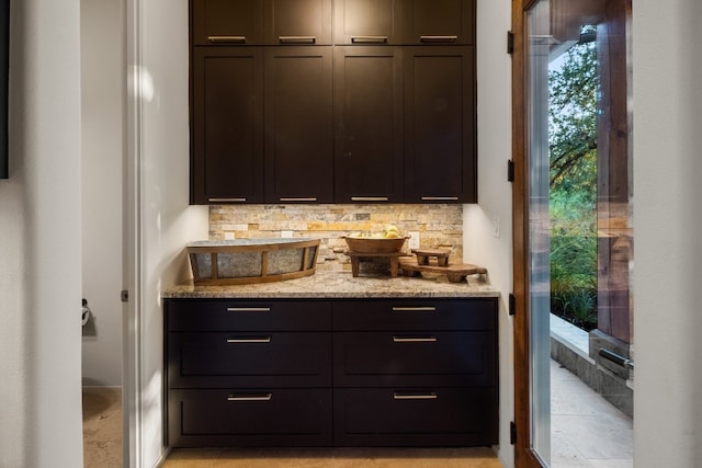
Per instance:
[[[336,203],[403,202],[399,50],[398,47],[336,47]]]

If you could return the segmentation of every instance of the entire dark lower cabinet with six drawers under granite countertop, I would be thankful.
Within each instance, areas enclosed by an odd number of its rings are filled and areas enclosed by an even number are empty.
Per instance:
[[[165,318],[169,446],[498,441],[497,299],[166,299]]]

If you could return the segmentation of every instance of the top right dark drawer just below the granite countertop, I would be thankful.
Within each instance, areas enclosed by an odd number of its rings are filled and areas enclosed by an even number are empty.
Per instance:
[[[497,299],[387,299],[335,301],[333,329],[495,330]]]

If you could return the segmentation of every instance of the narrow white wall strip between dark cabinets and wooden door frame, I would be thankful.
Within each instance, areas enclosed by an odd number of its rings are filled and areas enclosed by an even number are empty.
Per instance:
[[[511,0],[477,1],[478,81],[478,204],[464,206],[464,261],[488,269],[490,282],[501,292],[499,311],[500,441],[497,453],[513,466],[509,422],[514,419],[513,328],[507,311],[512,290],[512,187],[507,181],[511,146],[511,59],[507,31],[511,27]],[[499,237],[494,235],[498,221]]]

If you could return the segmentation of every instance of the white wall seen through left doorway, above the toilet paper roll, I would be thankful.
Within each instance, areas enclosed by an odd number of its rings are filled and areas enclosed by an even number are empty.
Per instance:
[[[124,0],[81,0],[83,385],[122,386]]]

